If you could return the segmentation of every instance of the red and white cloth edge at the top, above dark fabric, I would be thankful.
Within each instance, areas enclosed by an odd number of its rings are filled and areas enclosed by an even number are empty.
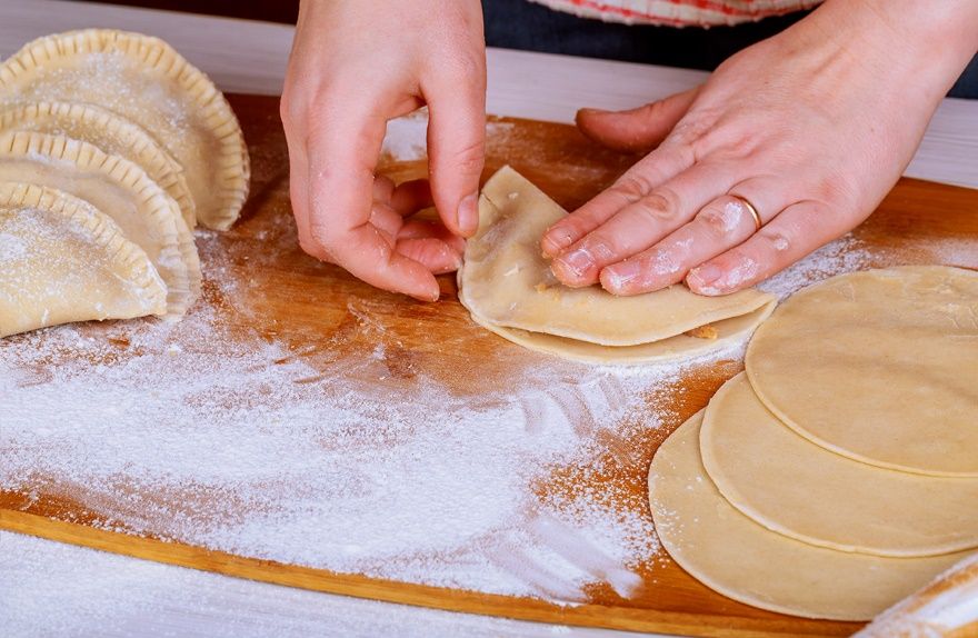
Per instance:
[[[582,18],[627,24],[716,27],[780,16],[821,0],[530,0]]]

